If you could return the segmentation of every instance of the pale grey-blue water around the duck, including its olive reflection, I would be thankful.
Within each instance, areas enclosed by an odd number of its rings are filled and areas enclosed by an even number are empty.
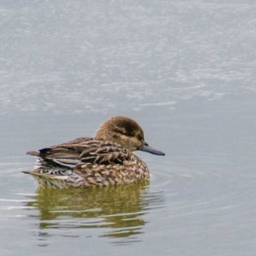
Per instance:
[[[255,255],[255,1],[1,1],[0,255]],[[26,151],[135,118],[151,180],[37,190]]]

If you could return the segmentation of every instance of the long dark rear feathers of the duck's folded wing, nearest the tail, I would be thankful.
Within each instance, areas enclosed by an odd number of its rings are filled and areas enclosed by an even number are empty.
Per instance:
[[[38,157],[37,167],[75,167],[80,162],[80,154],[88,148],[92,138],[77,138],[39,151],[29,151],[27,154]]]

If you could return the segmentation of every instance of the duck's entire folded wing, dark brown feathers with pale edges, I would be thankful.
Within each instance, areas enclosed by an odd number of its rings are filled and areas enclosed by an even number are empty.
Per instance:
[[[33,154],[32,154],[33,153]],[[92,138],[77,138],[68,143],[28,152],[39,157],[38,167],[70,167],[82,163],[97,165],[123,165],[135,156],[116,143]]]

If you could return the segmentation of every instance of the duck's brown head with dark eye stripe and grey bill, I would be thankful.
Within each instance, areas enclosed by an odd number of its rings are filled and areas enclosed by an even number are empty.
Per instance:
[[[125,116],[116,116],[105,121],[95,138],[113,141],[128,148],[129,151],[140,150],[160,156],[165,155],[165,153],[148,146],[144,140],[143,129],[137,122]]]

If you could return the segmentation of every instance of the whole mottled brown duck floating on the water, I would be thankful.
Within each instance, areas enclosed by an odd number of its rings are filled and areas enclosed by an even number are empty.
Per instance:
[[[126,116],[108,119],[94,138],[76,138],[26,154],[37,157],[33,176],[40,188],[87,188],[124,185],[149,179],[145,162],[133,151],[165,153],[146,143],[140,125]]]

